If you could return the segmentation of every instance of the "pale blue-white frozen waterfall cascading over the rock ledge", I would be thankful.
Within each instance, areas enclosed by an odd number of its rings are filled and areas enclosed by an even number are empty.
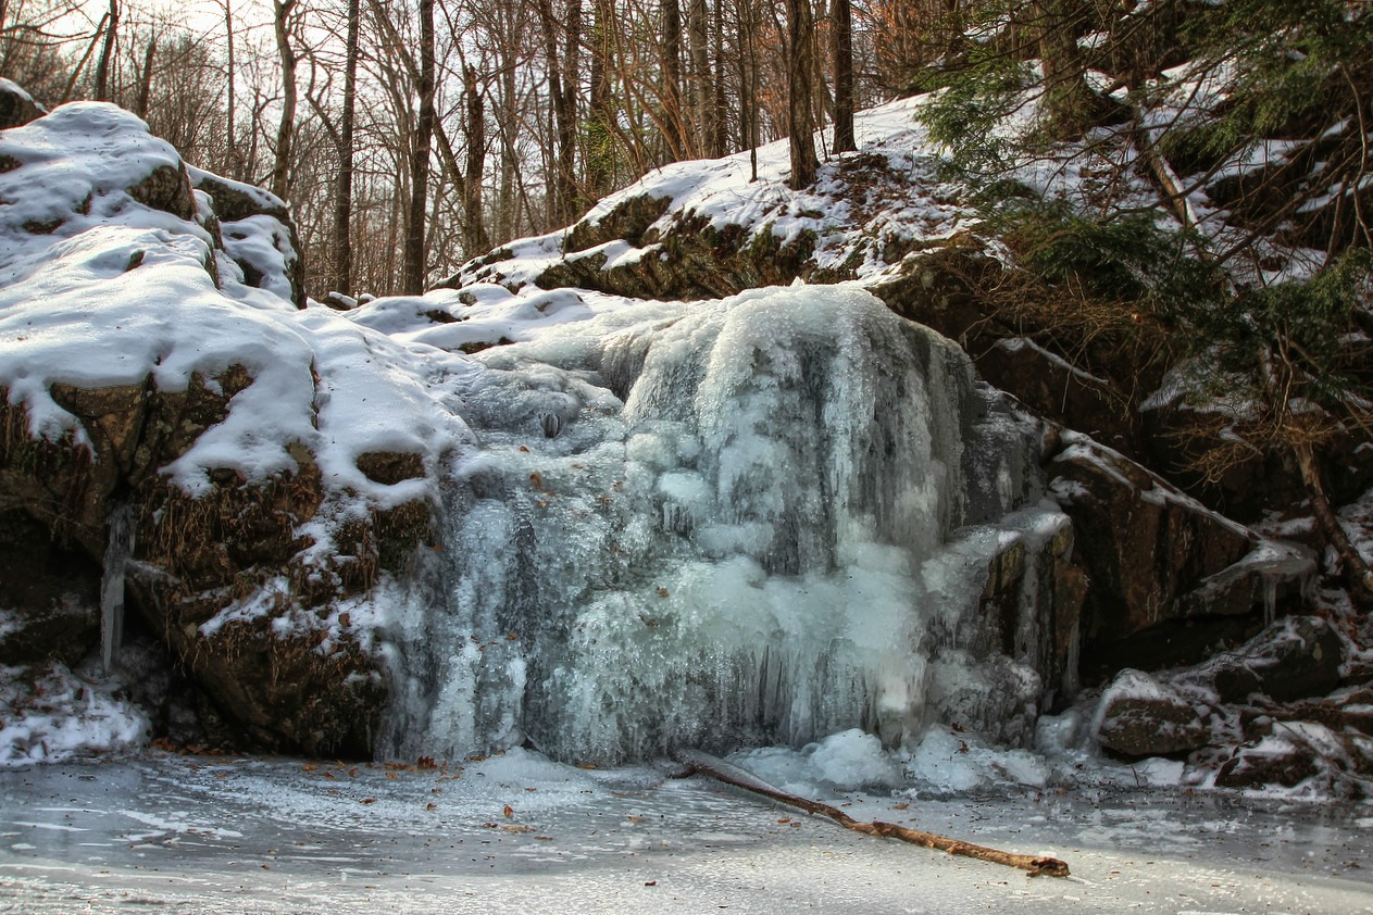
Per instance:
[[[897,745],[936,700],[969,727],[1038,701],[1038,649],[986,664],[978,606],[998,550],[1065,520],[953,343],[800,287],[476,358],[397,753]]]

